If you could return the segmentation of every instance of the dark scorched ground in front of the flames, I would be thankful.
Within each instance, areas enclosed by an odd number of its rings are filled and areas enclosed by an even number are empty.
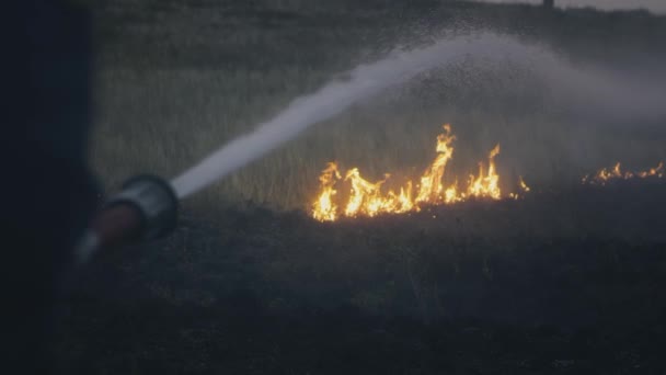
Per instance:
[[[663,374],[666,184],[321,224],[185,213],[72,276],[67,374]]]

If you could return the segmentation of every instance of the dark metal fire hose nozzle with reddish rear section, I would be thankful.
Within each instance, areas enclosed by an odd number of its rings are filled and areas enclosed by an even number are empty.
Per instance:
[[[139,175],[123,185],[94,219],[76,249],[78,263],[96,251],[164,237],[177,223],[179,201],[171,184],[154,175]]]

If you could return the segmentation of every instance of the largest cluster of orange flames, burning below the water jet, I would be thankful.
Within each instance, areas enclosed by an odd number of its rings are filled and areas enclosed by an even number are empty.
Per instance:
[[[451,126],[444,125],[444,133],[437,136],[435,160],[426,168],[425,172],[414,185],[410,180],[395,193],[394,190],[383,192],[382,188],[389,180],[390,174],[377,182],[370,182],[363,178],[358,168],[352,168],[344,173],[344,180],[337,170],[336,163],[329,163],[319,178],[320,189],[317,200],[312,205],[312,217],[320,221],[334,221],[337,218],[377,216],[380,214],[402,214],[418,212],[425,205],[455,204],[468,200],[502,200],[500,189],[500,175],[495,166],[495,157],[500,154],[500,145],[495,146],[489,154],[487,168],[483,162],[479,163],[479,174],[470,174],[467,186],[460,188],[458,179],[450,185],[445,185],[445,173],[448,163],[453,157],[453,141],[456,136],[451,134]],[[342,180],[342,181],[341,181]],[[346,204],[340,206],[334,202],[336,191],[334,185],[337,181],[349,185]],[[449,180],[450,181],[450,180]],[[529,192],[529,188],[523,181],[518,181],[523,192]],[[518,198],[517,193],[510,193],[506,197]]]

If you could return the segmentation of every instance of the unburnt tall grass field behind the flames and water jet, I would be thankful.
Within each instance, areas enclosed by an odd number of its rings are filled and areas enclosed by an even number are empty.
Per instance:
[[[356,65],[438,37],[491,30],[581,66],[666,77],[666,21],[641,12],[460,1],[114,0],[95,14],[92,156],[110,190],[137,172],[174,177]],[[615,161],[643,168],[666,158],[663,124],[581,116],[560,102],[520,67],[444,67],[314,126],[187,204],[307,208],[331,160],[371,179],[417,175],[444,123],[458,136],[451,168],[461,177],[496,143],[506,180],[521,174],[532,184],[569,183]]]

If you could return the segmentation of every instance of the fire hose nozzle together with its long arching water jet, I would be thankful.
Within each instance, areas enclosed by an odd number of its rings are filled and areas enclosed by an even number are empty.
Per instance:
[[[313,124],[326,121],[355,103],[403,84],[438,66],[464,63],[469,57],[493,63],[518,60],[540,68],[551,81],[572,82],[566,89],[570,92],[585,92],[586,105],[590,103],[588,98],[600,98],[602,100],[598,103],[604,103],[605,112],[619,107],[622,113],[633,114],[627,105],[621,105],[627,96],[618,94],[627,91],[618,89],[622,84],[610,82],[604,76],[576,70],[552,53],[537,46],[526,46],[514,38],[482,33],[438,41],[424,48],[394,52],[377,63],[356,67],[345,80],[333,80],[317,92],[296,99],[254,132],[225,145],[171,182],[156,177],[131,179],[94,220],[77,250],[78,262],[84,263],[100,249],[168,235],[176,226],[179,200],[223,179],[294,139]],[[585,91],[582,86],[592,89]],[[601,89],[595,89],[597,87]],[[634,91],[628,92],[633,95]],[[662,98],[653,93],[643,95],[629,102],[629,110],[663,114]],[[609,107],[609,103],[613,105]]]

